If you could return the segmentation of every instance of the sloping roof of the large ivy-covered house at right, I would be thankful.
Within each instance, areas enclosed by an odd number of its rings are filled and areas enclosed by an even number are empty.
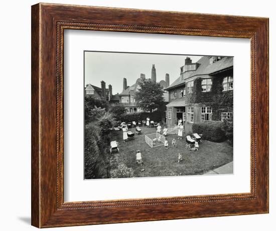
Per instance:
[[[188,71],[183,73],[183,76],[177,78],[169,87],[165,90],[174,88],[178,85],[184,84],[187,82],[189,78],[202,76],[206,78],[206,76],[212,75],[218,71],[222,71],[224,69],[233,67],[233,57],[223,57],[221,60],[210,64],[209,56],[203,56],[198,62],[199,67],[196,71]]]

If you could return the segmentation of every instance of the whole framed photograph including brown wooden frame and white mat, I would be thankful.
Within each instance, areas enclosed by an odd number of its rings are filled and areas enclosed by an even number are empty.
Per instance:
[[[268,19],[32,6],[32,225],[268,212]]]

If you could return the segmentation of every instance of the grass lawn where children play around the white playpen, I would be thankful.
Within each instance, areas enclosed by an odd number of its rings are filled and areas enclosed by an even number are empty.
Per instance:
[[[129,129],[134,132],[134,128]],[[169,149],[159,146],[151,148],[145,142],[145,135],[156,132],[155,128],[142,127],[142,135],[135,134],[134,140],[122,141],[122,131],[113,132],[113,140],[119,142],[119,153],[112,153],[113,163],[124,163],[134,171],[135,177],[199,175],[233,161],[233,147],[227,142],[214,143],[203,140],[198,151],[185,148],[185,134],[182,140],[176,134],[168,134]],[[176,138],[177,148],[172,148],[172,140]],[[143,165],[136,164],[136,150],[140,149]],[[183,161],[178,163],[178,153],[182,153]],[[113,168],[116,167],[113,164]],[[112,171],[111,166],[111,171]],[[141,171],[145,169],[144,171]]]

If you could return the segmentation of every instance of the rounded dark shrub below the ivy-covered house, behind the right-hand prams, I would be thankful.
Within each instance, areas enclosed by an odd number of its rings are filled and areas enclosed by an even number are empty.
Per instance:
[[[203,121],[193,124],[193,133],[203,134],[202,139],[222,142],[226,139],[222,121]]]

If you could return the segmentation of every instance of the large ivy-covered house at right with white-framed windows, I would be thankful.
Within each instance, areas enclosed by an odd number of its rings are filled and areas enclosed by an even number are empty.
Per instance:
[[[180,77],[165,90],[169,127],[181,118],[188,133],[193,123],[229,118],[233,115],[233,57],[204,56],[196,63],[187,57]]]

